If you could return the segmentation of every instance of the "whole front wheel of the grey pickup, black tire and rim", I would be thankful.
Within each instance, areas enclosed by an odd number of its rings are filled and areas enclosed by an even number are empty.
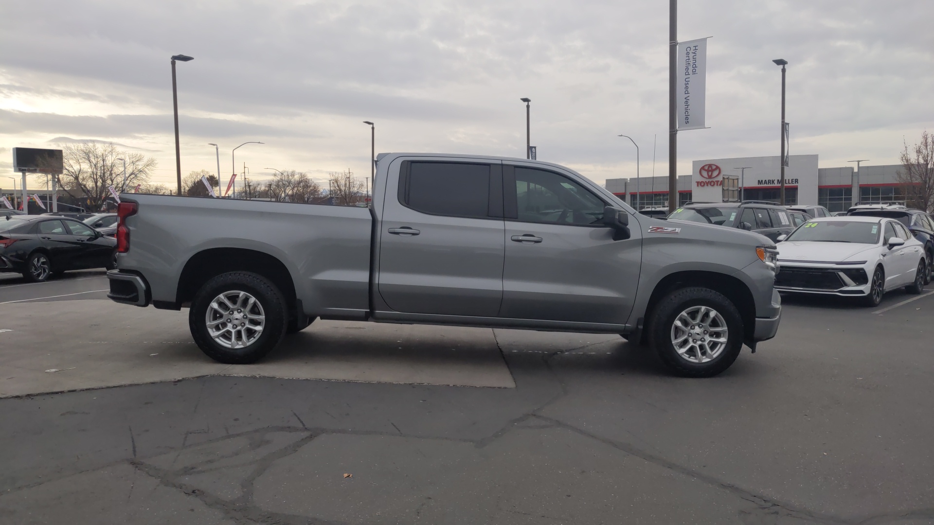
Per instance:
[[[723,294],[707,288],[675,290],[656,307],[652,347],[673,373],[710,377],[728,369],[743,349],[743,318]]]

